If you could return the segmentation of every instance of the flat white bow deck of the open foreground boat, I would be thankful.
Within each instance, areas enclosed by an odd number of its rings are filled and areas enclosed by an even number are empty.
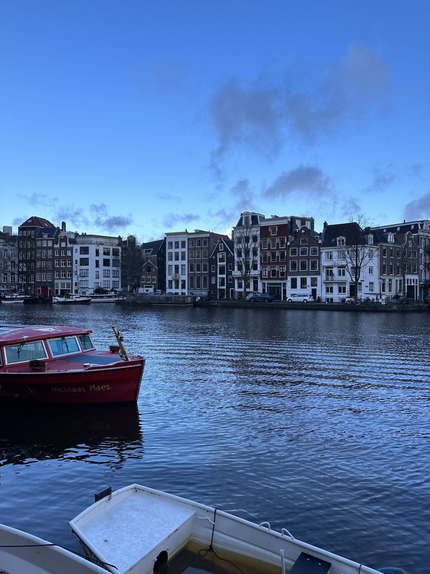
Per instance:
[[[138,491],[112,501],[100,513],[86,515],[76,525],[105,560],[124,573],[194,514],[179,503]]]

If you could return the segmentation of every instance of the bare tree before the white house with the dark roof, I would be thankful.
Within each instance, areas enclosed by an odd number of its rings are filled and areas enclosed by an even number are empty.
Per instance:
[[[349,219],[349,237],[346,238],[345,259],[346,270],[354,284],[355,297],[358,295],[358,283],[360,281],[361,269],[371,261],[375,247],[373,247],[373,234],[370,220],[366,214],[358,214],[355,218]]]

